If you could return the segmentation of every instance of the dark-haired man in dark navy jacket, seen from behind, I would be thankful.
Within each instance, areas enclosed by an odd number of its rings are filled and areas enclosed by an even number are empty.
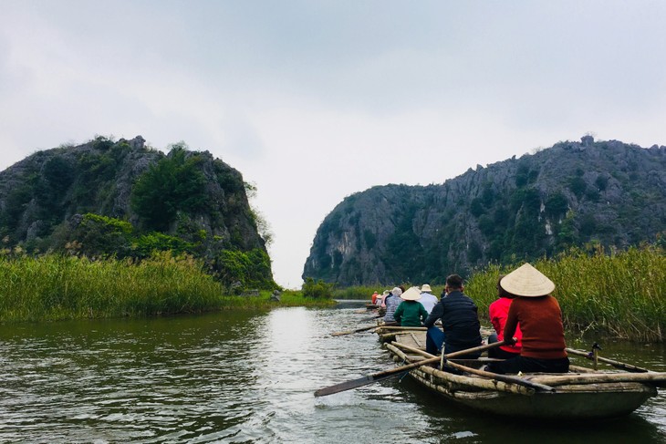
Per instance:
[[[453,353],[474,346],[481,346],[481,324],[479,323],[478,308],[473,300],[463,294],[463,278],[458,274],[451,274],[446,278],[442,297],[426,318],[423,325],[428,327],[425,336],[425,350],[431,355]],[[436,327],[435,321],[442,319],[442,330]],[[475,359],[481,356],[480,352],[461,356],[461,358]]]

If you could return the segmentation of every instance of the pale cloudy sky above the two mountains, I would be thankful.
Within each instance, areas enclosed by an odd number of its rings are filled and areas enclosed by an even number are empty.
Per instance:
[[[666,145],[661,0],[0,0],[0,170],[98,135],[240,170],[276,282],[328,212],[586,134]]]

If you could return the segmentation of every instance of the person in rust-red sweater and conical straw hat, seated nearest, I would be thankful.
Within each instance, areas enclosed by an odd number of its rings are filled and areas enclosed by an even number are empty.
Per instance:
[[[569,359],[564,338],[562,311],[550,295],[555,284],[529,263],[506,274],[502,288],[515,299],[506,318],[505,342],[513,343],[520,324],[523,332],[520,356],[487,367],[494,373],[567,373]]]

